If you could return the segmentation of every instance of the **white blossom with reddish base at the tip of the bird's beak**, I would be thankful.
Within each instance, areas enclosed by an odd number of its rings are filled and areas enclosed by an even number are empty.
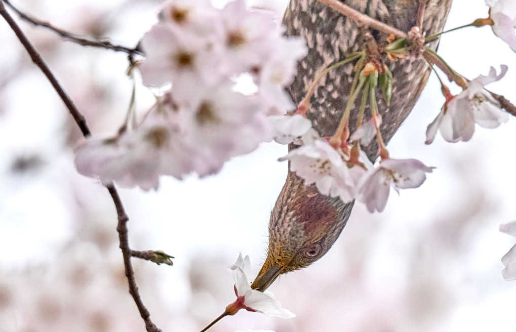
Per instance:
[[[249,283],[249,274],[251,272],[249,256],[242,258],[242,254],[240,254],[235,264],[229,267],[229,271],[235,279],[237,299],[226,307],[225,312],[227,314],[232,315],[240,309],[246,309],[248,311],[262,312],[272,317],[296,317],[291,311],[283,309],[281,304],[274,299],[271,292],[251,289],[251,284]]]

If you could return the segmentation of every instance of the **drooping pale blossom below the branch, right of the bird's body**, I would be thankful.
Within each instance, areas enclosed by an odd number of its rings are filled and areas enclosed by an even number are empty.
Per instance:
[[[507,122],[507,112],[484,89],[489,83],[501,79],[506,72],[506,65],[502,65],[502,71],[498,75],[491,67],[488,76],[478,76],[458,95],[451,95],[446,89],[446,102],[437,118],[428,125],[425,143],[432,143],[437,131],[448,142],[469,141],[475,131],[475,123],[481,127],[495,128]]]

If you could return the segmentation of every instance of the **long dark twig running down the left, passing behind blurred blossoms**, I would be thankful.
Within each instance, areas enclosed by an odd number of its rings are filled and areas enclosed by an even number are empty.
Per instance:
[[[23,34],[23,31],[20,29],[18,24],[12,19],[11,15],[7,12],[4,3],[0,1],[0,15],[3,16],[3,18],[6,20],[7,24],[11,27],[11,29],[14,31],[22,45],[27,50],[27,53],[30,55],[31,59],[34,61],[34,63],[41,69],[43,74],[49,79],[52,86],[56,90],[57,94],[65,103],[66,107],[68,108],[70,114],[72,114],[73,119],[79,126],[80,130],[83,132],[84,137],[87,137],[91,135],[91,131],[88,128],[86,121],[84,119],[84,116],[78,111],[77,107],[73,104],[72,100],[68,96],[68,94],[65,92],[65,90],[60,86],[59,82],[55,78],[54,74],[50,71],[49,67],[44,62],[41,55],[36,51],[36,48],[30,43],[30,41],[27,39],[27,37]],[[125,275],[127,277],[127,281],[129,284],[129,292],[133,296],[134,302],[136,303],[136,306],[138,307],[138,310],[140,312],[141,317],[143,318],[143,321],[145,322],[147,331],[149,332],[161,332],[161,330],[151,321],[150,319],[150,313],[149,310],[144,306],[143,302],[141,301],[141,297],[138,293],[138,286],[136,285],[136,280],[134,277],[134,270],[131,264],[131,250],[129,248],[128,243],[128,235],[127,235],[127,221],[128,217],[124,211],[122,202],[120,200],[120,196],[118,195],[118,192],[114,186],[106,186],[106,188],[109,191],[109,194],[111,195],[111,198],[113,202],[115,203],[115,208],[117,209],[118,214],[118,226],[117,230],[119,233],[119,239],[120,239],[120,248],[122,250],[122,255],[124,259],[124,268],[125,268]]]

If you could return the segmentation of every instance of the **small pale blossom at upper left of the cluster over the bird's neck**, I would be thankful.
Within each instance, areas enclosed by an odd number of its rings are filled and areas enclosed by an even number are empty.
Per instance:
[[[312,128],[312,122],[300,114],[270,115],[267,121],[271,127],[272,138],[280,144],[290,144]]]

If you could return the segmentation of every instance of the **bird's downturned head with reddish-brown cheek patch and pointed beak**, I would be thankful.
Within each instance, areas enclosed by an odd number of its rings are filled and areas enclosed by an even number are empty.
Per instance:
[[[352,206],[304,186],[289,173],[271,212],[267,258],[251,288],[264,291],[281,274],[308,267],[326,254]]]

